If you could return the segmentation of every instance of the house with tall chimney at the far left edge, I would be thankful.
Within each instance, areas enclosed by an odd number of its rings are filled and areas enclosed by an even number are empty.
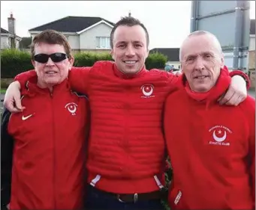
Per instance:
[[[20,48],[21,37],[17,36],[15,32],[15,18],[11,13],[8,17],[8,31],[1,28],[1,49]]]

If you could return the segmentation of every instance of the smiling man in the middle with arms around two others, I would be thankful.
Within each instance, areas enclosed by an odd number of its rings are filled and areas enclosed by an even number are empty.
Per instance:
[[[161,116],[178,77],[146,70],[149,34],[137,19],[117,22],[110,40],[115,62],[74,68],[68,76],[74,90],[88,93],[92,111],[86,209],[162,209],[166,148]],[[22,88],[33,74],[17,76]],[[241,101],[236,97],[232,104]]]

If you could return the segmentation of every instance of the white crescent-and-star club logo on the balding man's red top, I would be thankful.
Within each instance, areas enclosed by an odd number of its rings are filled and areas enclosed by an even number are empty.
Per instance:
[[[209,140],[209,144],[230,146],[227,139],[227,136],[232,134],[230,129],[225,126],[214,126],[209,129],[209,132],[212,134],[212,138],[214,140]]]

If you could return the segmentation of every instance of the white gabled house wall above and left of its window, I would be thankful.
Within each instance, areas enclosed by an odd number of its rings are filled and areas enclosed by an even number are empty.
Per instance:
[[[105,23],[80,34],[80,49],[96,49],[96,37],[110,37],[112,28]]]

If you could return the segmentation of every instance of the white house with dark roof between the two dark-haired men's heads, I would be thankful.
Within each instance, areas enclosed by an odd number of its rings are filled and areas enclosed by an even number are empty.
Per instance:
[[[110,32],[114,26],[101,17],[66,16],[62,19],[29,29],[32,38],[41,31],[53,29],[61,32],[68,39],[75,52],[110,51]]]

